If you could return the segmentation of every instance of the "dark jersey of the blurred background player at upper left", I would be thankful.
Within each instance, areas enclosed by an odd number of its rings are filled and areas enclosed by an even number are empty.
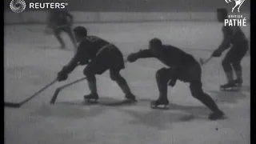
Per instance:
[[[64,26],[69,25],[69,18],[73,18],[72,15],[66,10],[52,10],[49,14],[50,26]]]

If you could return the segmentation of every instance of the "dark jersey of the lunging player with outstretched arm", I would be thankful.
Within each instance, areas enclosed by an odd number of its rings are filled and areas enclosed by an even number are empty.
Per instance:
[[[151,50],[140,50],[137,54],[138,58],[158,58],[162,63],[170,67],[188,66],[196,62],[192,55],[186,54],[177,47],[170,45],[162,46],[162,51],[158,54],[154,54]]]

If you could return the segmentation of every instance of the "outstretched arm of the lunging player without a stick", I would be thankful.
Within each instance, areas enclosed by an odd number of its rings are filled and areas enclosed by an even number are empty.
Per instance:
[[[150,50],[139,50],[137,53],[130,54],[127,58],[129,62],[135,62],[138,58],[154,58]]]

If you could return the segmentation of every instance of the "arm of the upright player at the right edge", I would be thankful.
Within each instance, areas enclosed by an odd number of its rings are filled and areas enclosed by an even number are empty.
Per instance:
[[[232,37],[232,31],[227,29],[227,28],[223,28],[223,40],[220,46],[218,46],[217,50],[214,50],[214,53],[212,54],[215,57],[218,57],[222,54],[222,52],[226,49],[228,49],[230,47],[230,40]]]

